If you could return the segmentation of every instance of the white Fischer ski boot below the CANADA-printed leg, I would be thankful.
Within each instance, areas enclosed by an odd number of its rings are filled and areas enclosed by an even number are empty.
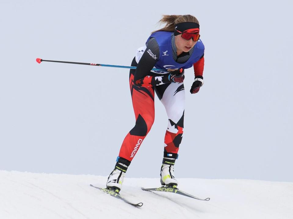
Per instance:
[[[107,188],[119,193],[122,187],[123,179],[130,161],[117,157],[114,170],[110,173],[107,179]]]

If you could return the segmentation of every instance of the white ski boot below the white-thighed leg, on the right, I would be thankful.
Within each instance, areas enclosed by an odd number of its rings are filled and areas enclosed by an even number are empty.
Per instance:
[[[161,166],[161,185],[176,188],[178,181],[174,177],[174,164],[178,154],[164,151],[163,164]]]

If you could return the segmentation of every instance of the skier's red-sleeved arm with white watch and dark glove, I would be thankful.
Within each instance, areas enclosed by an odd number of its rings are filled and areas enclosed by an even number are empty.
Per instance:
[[[196,63],[193,64],[193,68],[194,82],[190,89],[190,93],[192,94],[197,93],[204,83],[204,78],[202,76],[204,72],[204,55],[202,55],[202,57]]]

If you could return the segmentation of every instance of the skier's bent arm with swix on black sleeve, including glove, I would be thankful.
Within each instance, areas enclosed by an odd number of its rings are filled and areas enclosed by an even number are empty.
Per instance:
[[[170,83],[168,79],[169,74],[162,76],[149,75],[159,57],[160,50],[157,40],[155,38],[150,38],[150,40],[147,42],[147,48],[136,67],[134,74],[134,83],[136,86],[153,87],[156,85]]]

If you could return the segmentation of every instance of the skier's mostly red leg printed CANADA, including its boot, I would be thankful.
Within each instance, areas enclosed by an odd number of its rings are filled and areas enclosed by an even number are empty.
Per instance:
[[[131,65],[136,66],[135,59],[133,59]],[[130,70],[129,85],[136,123],[126,135],[121,145],[115,168],[107,180],[107,187],[117,189],[118,192],[122,187],[125,172],[130,162],[154,123],[154,88],[134,85],[134,72],[134,69]]]

